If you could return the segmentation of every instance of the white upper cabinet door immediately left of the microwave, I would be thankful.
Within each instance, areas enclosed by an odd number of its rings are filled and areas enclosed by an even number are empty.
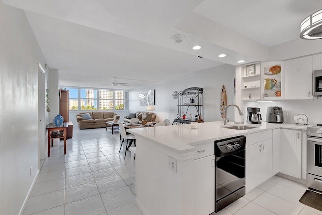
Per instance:
[[[312,99],[313,56],[285,61],[285,99]]]

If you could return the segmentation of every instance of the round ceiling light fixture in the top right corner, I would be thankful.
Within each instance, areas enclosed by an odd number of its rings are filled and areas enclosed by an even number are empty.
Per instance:
[[[301,22],[300,38],[307,40],[322,38],[322,10],[313,13]]]

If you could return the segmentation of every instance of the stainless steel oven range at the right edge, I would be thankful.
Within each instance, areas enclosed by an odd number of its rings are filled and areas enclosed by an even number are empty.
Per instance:
[[[322,124],[307,128],[306,186],[322,191]]]

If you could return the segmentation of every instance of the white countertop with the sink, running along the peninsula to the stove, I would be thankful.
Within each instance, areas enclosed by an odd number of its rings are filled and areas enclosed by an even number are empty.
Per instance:
[[[223,122],[204,122],[198,123],[197,129],[191,129],[190,124],[183,125],[169,125],[159,127],[147,127],[147,128],[134,128],[128,129],[127,132],[136,136],[151,139],[157,144],[170,148],[177,153],[185,153],[194,151],[194,145],[211,142],[218,139],[229,138],[238,135],[246,135],[264,130],[270,130],[275,128],[289,128],[297,130],[306,130],[307,127],[312,125],[295,125],[291,123],[267,123],[262,124],[249,124],[243,125],[252,126],[255,128],[248,130],[234,130],[224,127],[241,125],[241,124],[229,124],[223,125]]]

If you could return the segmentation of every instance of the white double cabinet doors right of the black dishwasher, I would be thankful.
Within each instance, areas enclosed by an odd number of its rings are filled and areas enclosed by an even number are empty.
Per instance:
[[[246,147],[246,193],[272,177],[272,139]]]

